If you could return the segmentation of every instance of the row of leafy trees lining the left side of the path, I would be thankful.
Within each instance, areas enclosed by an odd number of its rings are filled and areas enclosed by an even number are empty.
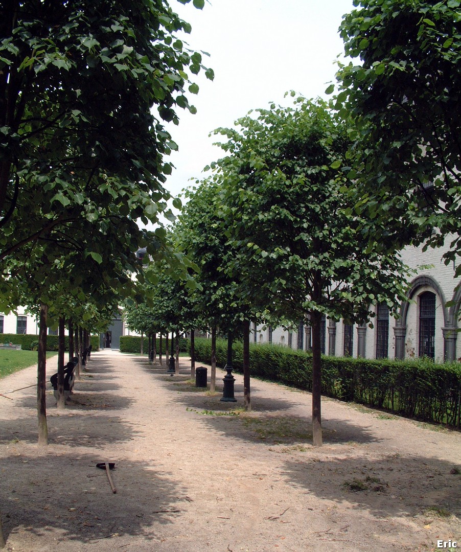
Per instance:
[[[29,305],[40,320],[46,444],[46,328],[96,333],[139,300],[141,247],[188,278],[158,219],[173,218],[164,121],[195,111],[194,75],[213,71],[175,37],[191,29],[167,2],[11,0],[0,15],[0,311]]]

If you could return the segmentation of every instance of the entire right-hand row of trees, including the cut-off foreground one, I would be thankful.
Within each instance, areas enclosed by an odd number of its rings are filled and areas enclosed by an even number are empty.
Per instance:
[[[316,445],[321,316],[364,322],[372,303],[395,309],[405,245],[451,234],[446,262],[461,251],[460,2],[360,4],[340,31],[361,64],[340,66],[336,97],[273,104],[216,130],[225,156],[187,192],[172,230],[200,267],[192,301],[186,288],[169,296],[187,320],[174,324],[240,332],[244,344],[250,322],[312,327]],[[165,328],[166,311],[155,312]],[[244,370],[250,407],[245,348]]]

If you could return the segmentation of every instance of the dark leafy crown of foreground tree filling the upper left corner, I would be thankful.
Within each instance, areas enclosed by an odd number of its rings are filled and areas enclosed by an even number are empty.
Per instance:
[[[169,198],[177,146],[161,121],[195,111],[186,71],[202,56],[174,38],[190,25],[153,0],[11,0],[0,15],[0,259],[40,241],[72,248],[75,231],[126,232],[127,219],[155,253],[165,233],[146,240],[134,221],[158,222]]]

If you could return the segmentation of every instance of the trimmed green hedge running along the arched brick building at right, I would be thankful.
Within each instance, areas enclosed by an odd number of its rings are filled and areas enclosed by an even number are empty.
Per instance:
[[[243,369],[242,344],[235,343],[232,363]],[[209,363],[211,341],[195,339],[199,362]],[[216,364],[224,368],[227,342],[216,341]],[[312,355],[273,344],[250,344],[251,374],[312,391]],[[383,408],[398,415],[461,427],[461,365],[428,359],[368,360],[322,357],[322,394]]]

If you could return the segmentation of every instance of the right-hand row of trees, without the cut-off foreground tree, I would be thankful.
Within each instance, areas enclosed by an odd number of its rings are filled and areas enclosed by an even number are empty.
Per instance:
[[[314,443],[320,445],[321,317],[363,322],[371,302],[396,305],[405,267],[395,249],[368,247],[368,221],[354,210],[343,170],[351,145],[346,121],[325,102],[304,98],[293,108],[271,105],[256,113],[236,129],[216,130],[227,139],[220,145],[228,155],[188,192],[173,226],[177,247],[200,268],[199,287],[188,293],[179,285],[166,308],[165,284],[157,284],[152,312],[158,328],[202,325],[212,335],[219,327],[243,337],[247,408],[250,324],[310,325]]]

